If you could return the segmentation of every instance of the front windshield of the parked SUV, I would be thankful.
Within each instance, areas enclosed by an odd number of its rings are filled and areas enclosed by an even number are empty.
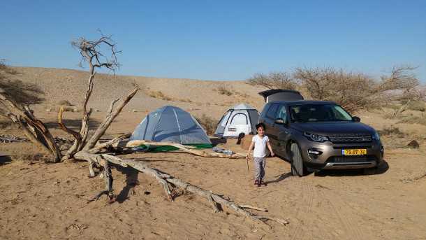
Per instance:
[[[352,121],[351,115],[335,104],[290,106],[292,122]]]

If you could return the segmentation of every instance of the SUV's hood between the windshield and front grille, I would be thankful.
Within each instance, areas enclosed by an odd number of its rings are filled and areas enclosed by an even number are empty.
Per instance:
[[[310,134],[373,134],[374,129],[361,122],[292,122],[291,128]]]

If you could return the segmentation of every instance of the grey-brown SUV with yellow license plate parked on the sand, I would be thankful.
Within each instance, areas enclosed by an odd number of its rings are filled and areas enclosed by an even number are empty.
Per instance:
[[[372,127],[332,101],[272,101],[260,113],[274,152],[291,162],[293,176],[321,169],[367,169],[383,160]]]

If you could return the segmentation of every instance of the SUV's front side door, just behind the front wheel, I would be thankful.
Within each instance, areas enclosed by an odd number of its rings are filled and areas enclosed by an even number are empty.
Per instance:
[[[284,124],[274,123],[273,131],[276,132],[276,139],[274,143],[274,151],[280,156],[286,156],[286,144],[290,138],[290,131],[288,129],[288,111],[287,106],[281,104],[277,109],[275,119],[281,118]]]

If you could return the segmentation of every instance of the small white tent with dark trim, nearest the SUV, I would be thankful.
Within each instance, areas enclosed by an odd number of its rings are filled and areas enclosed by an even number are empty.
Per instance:
[[[232,138],[240,133],[256,134],[259,113],[249,104],[238,104],[223,115],[217,125],[215,136]]]

